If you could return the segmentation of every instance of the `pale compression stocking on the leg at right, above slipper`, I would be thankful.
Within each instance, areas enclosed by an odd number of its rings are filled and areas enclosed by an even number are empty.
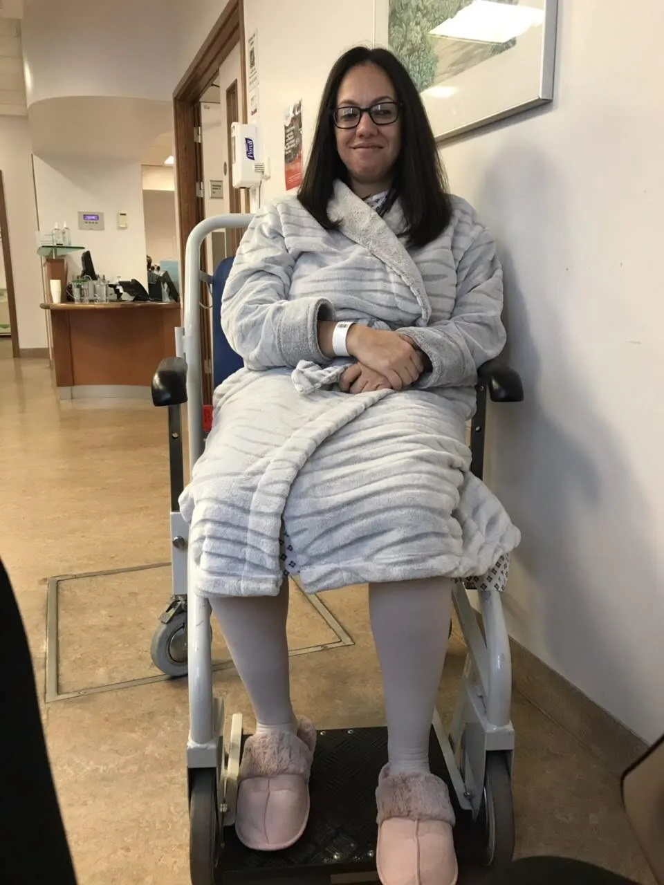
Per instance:
[[[429,730],[447,649],[452,586],[445,578],[369,585],[392,774],[429,771]]]

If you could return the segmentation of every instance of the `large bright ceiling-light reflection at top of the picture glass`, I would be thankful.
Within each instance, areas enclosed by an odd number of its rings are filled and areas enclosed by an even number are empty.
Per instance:
[[[473,0],[472,4],[459,10],[453,19],[446,19],[435,27],[431,34],[453,40],[506,43],[543,23],[544,10],[532,6]]]

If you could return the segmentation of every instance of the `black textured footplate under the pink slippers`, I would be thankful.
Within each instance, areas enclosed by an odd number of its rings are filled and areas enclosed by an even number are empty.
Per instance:
[[[449,778],[436,735],[431,731],[431,770]],[[377,835],[375,789],[387,762],[387,729],[322,731],[318,735],[310,783],[311,813],[305,834],[284,851],[245,848],[233,827],[225,827],[219,881],[264,877],[324,877],[375,870]],[[456,804],[451,789],[452,802]],[[471,821],[459,813],[455,840],[466,842]],[[458,850],[461,846],[458,846]],[[467,854],[459,850],[460,855]]]

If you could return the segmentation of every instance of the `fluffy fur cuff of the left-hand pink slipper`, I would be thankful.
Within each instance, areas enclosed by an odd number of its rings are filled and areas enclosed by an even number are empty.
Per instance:
[[[297,735],[287,731],[252,735],[244,744],[240,780],[298,774],[309,781],[316,729],[304,718],[298,720],[297,725]]]

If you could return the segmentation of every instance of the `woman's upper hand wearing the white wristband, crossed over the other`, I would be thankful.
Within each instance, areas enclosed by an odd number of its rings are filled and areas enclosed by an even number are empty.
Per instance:
[[[409,387],[424,371],[421,352],[397,332],[356,323],[348,330],[346,347],[359,363],[383,375],[393,390]]]

